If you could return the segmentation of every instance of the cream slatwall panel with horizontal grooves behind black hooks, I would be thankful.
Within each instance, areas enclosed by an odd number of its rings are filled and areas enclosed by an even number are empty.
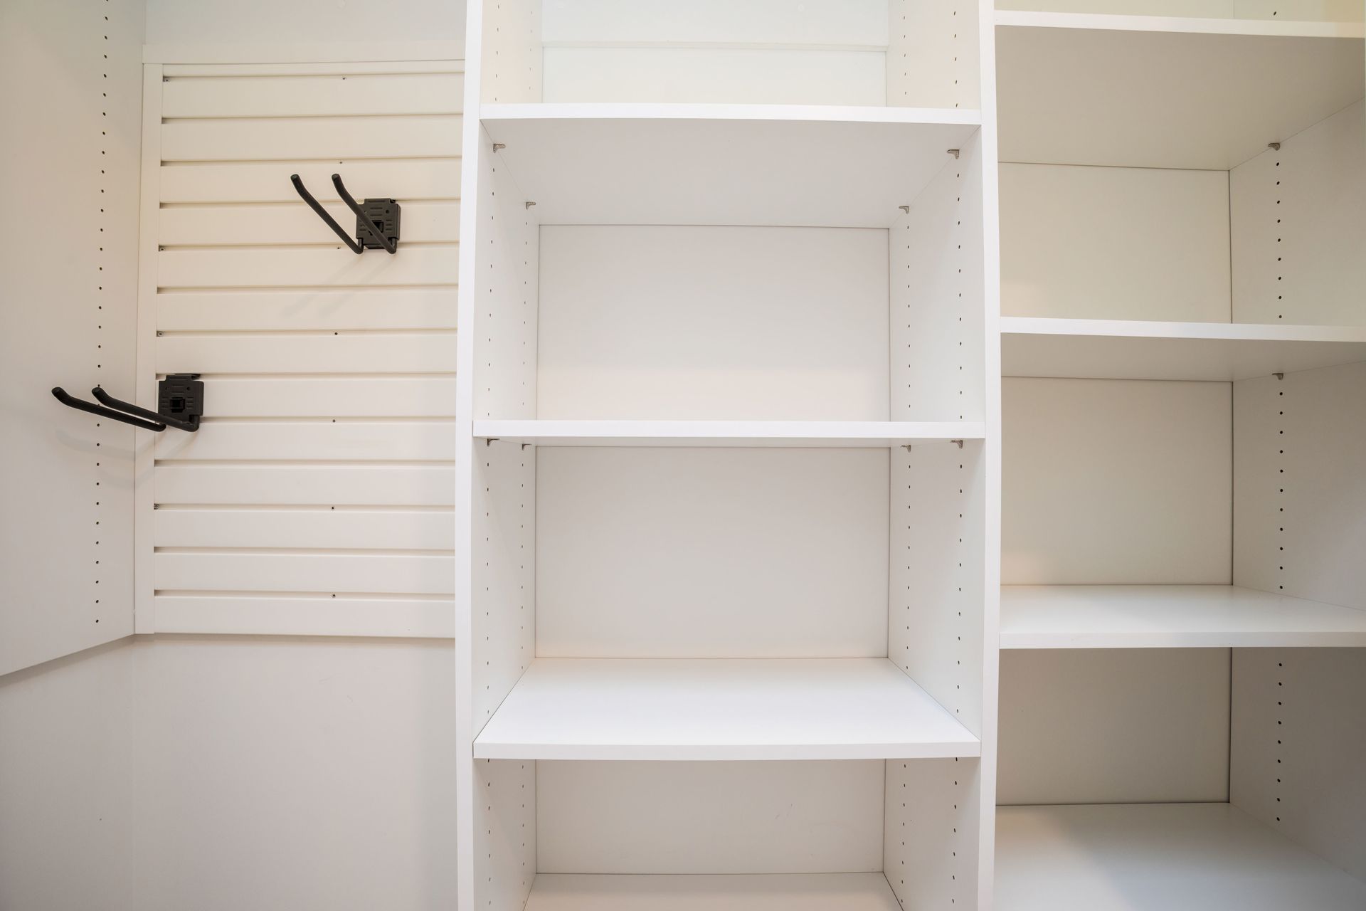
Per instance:
[[[139,630],[452,634],[462,70],[165,67],[149,92],[143,332],[208,417],[154,445]],[[290,184],[351,225],[333,172],[400,202],[398,254],[354,255]]]

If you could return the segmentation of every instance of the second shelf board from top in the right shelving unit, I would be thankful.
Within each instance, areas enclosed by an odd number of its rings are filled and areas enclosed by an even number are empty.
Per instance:
[[[1001,318],[1008,377],[1247,380],[1366,361],[1366,326]]]

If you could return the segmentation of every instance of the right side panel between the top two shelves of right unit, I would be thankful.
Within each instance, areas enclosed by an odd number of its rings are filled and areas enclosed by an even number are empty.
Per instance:
[[[1366,325],[1366,102],[1231,172],[1233,320]]]

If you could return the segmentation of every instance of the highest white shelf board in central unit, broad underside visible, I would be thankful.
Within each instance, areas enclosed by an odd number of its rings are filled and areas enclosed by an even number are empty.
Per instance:
[[[889,227],[979,128],[977,111],[488,104],[541,224]]]

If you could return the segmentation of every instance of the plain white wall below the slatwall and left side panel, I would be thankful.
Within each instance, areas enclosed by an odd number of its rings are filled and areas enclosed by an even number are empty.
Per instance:
[[[455,904],[449,642],[124,639],[0,679],[0,908]]]

